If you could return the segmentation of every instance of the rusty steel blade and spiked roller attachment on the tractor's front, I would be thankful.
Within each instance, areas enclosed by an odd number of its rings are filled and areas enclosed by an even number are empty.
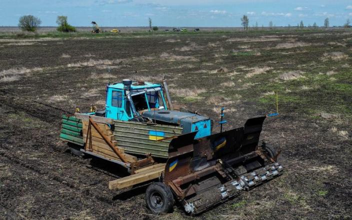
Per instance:
[[[250,118],[243,127],[195,140],[196,132],[171,140],[163,182],[186,213],[196,215],[230,198],[241,199],[245,190],[282,173],[273,150],[258,145],[264,119]]]

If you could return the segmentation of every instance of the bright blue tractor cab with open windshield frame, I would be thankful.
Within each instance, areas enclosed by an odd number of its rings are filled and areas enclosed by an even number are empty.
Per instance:
[[[105,114],[116,120],[132,120],[144,111],[167,110],[160,84],[123,80],[107,86]]]

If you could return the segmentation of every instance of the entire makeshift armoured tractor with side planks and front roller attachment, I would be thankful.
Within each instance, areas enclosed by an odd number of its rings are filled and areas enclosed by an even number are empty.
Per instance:
[[[223,110],[223,109],[222,109]],[[149,186],[146,205],[195,215],[282,173],[279,151],[259,144],[265,116],[211,133],[212,120],[173,105],[167,84],[124,79],[108,85],[103,111],[62,115],[60,138],[71,152],[123,166],[111,190]],[[220,124],[225,123],[221,111]]]

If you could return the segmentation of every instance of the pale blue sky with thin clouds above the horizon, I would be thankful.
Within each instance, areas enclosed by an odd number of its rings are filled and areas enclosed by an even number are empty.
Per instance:
[[[65,15],[73,26],[234,27],[243,14],[249,26],[330,26],[352,20],[352,0],[1,0],[0,26],[16,26],[21,15],[32,14],[42,26],[56,26]]]

